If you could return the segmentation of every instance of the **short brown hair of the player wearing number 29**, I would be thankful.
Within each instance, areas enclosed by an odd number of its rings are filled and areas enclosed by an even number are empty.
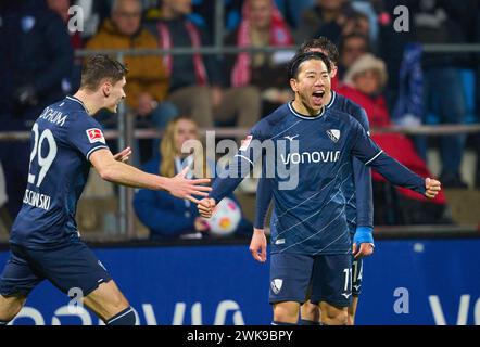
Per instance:
[[[102,79],[110,79],[113,85],[128,74],[122,63],[105,54],[89,56],[81,68],[80,88],[97,90]]]

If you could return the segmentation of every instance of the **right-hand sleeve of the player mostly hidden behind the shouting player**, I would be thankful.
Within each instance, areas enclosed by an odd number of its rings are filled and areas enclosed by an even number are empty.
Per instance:
[[[363,107],[354,107],[352,115],[369,133],[367,113]],[[352,157],[353,179],[356,196],[356,224],[358,227],[374,227],[374,194],[371,189],[371,169],[365,166],[357,157]]]

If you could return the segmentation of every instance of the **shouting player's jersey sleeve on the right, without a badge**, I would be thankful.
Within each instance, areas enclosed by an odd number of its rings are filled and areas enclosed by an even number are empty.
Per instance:
[[[426,192],[425,180],[384,153],[358,121],[352,121],[352,154],[365,165],[374,167],[391,183],[420,194]]]

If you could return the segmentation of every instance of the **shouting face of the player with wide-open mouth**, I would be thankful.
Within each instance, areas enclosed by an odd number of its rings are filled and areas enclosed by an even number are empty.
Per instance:
[[[330,75],[321,60],[310,59],[299,66],[295,78],[290,79],[295,92],[294,108],[305,115],[315,116],[327,104],[330,93]]]

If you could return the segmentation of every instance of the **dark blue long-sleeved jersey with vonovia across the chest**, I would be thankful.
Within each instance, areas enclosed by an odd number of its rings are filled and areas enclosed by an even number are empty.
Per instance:
[[[220,201],[261,156],[264,175],[274,181],[271,253],[351,253],[343,187],[352,180],[352,156],[395,184],[425,191],[424,180],[383,154],[349,114],[324,107],[317,116],[304,116],[289,103],[252,128],[228,168],[238,177],[216,179],[210,195]]]

